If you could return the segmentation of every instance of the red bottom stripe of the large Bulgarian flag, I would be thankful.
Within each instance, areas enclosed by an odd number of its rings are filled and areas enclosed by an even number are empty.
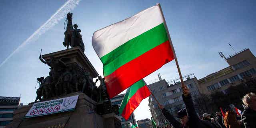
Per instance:
[[[172,48],[167,40],[124,64],[112,74],[105,76],[109,97],[113,98],[138,80],[148,76],[173,59]]]

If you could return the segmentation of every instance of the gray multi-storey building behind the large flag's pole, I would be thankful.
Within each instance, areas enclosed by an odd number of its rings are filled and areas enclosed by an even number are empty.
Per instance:
[[[184,84],[190,89],[190,94],[194,100],[200,96],[198,90],[198,82],[194,74],[184,76],[186,80]],[[164,106],[174,117],[177,117],[178,110],[185,108],[182,100],[182,89],[180,79],[166,82],[159,77],[159,81],[149,84],[149,88],[158,100],[158,102]],[[149,97],[149,104],[151,116],[158,126],[164,126],[166,118],[162,115],[160,108],[153,96]],[[196,106],[196,105],[195,105]],[[178,118],[177,118],[178,120]]]

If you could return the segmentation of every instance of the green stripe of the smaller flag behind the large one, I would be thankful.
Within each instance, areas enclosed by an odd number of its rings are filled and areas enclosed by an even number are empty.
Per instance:
[[[124,95],[124,99],[122,101],[121,106],[119,107],[119,113],[122,114],[126,104],[130,100],[130,98],[137,92],[138,89],[142,88],[144,85],[144,80],[139,80],[138,82],[134,83],[130,88],[126,90],[126,93]]]

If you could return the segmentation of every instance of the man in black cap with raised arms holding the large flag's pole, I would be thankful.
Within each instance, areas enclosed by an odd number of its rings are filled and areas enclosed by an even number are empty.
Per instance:
[[[211,122],[200,120],[196,115],[196,110],[194,108],[189,89],[184,86],[182,87],[182,92],[182,98],[186,108],[182,108],[177,113],[178,118],[180,118],[180,122],[178,122],[162,105],[159,106],[162,109],[163,115],[172,124],[172,126],[174,128],[214,128]]]

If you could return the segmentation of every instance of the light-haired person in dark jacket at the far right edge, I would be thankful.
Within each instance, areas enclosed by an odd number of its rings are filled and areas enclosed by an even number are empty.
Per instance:
[[[244,111],[241,114],[241,120],[244,128],[256,128],[256,94],[246,94],[242,102],[244,103]]]

